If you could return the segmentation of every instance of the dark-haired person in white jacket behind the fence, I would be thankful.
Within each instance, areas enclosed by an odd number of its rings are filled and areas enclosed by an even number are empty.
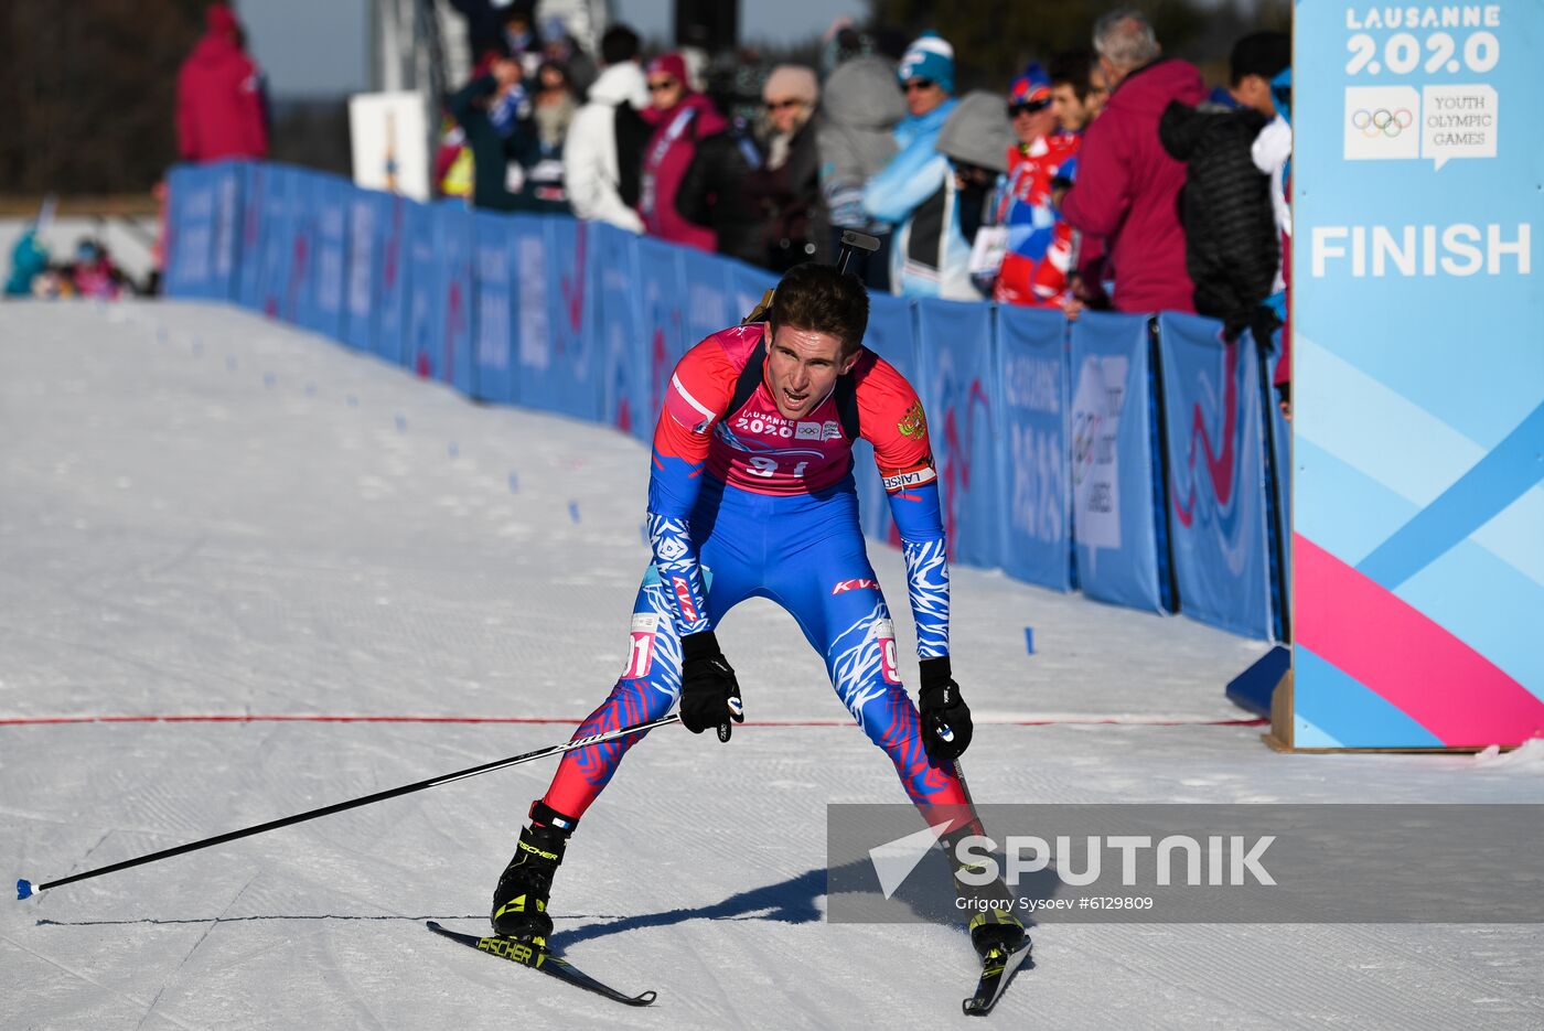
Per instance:
[[[644,221],[625,199],[631,193],[636,202],[638,170],[622,168],[618,161],[618,128],[622,128],[618,125],[618,110],[627,105],[631,114],[648,105],[638,48],[638,34],[625,25],[613,25],[601,37],[605,69],[590,86],[588,102],[568,125],[564,145],[564,187],[574,215],[633,233],[644,232]],[[631,190],[624,185],[627,177]]]

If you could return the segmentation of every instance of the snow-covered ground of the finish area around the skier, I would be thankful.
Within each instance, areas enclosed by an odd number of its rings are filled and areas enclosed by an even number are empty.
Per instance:
[[[622,665],[645,458],[604,428],[479,407],[224,307],[0,306],[0,721],[579,719]],[[903,597],[899,557],[874,551]],[[954,614],[956,671],[987,722],[977,801],[1544,801],[1539,762],[1282,756],[1257,727],[1206,725],[1243,716],[1221,688],[1261,647],[1184,619],[970,570]],[[554,897],[557,945],[656,988],[653,1008],[422,928],[486,926],[542,762],[0,903],[0,1023],[963,1022],[963,934],[821,918],[824,803],[899,801],[889,764],[781,611],[746,605],[721,639],[750,719],[772,725],[638,747]],[[1034,718],[1064,722],[1007,722]],[[1095,718],[1121,722],[1070,722]],[[800,719],[831,725],[786,725]],[[0,724],[0,870],[59,878],[567,733]],[[1538,1028],[1541,949],[1538,926],[1051,925],[991,1019]]]

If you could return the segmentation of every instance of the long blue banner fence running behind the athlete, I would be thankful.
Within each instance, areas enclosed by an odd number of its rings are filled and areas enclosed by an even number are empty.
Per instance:
[[[775,284],[565,216],[468,211],[273,164],[179,167],[167,293],[230,301],[468,397],[650,440],[670,369]],[[1248,335],[1194,315],[874,296],[865,344],[928,412],[954,560],[1272,639],[1285,426]],[[871,452],[863,529],[896,543]],[[1283,485],[1285,488],[1285,485]]]

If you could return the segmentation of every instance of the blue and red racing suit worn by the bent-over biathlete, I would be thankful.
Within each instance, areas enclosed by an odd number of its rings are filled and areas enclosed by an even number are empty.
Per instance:
[[[766,384],[767,333],[766,324],[715,333],[670,377],[648,482],[655,562],[633,607],[627,668],[574,736],[664,716],[681,693],[681,636],[712,630],[747,597],[767,597],[824,657],[837,696],[889,755],[913,803],[963,806],[953,764],[933,766],[923,752],[852,483],[855,423],[874,446],[900,531],[917,654],[946,656],[948,563],[922,403],[889,363],[865,352],[846,383],[787,420]],[[736,394],[749,400],[733,404]],[[567,753],[542,801],[577,820],[641,738]]]

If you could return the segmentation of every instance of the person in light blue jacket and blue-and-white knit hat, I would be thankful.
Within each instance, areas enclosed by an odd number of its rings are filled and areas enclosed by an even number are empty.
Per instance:
[[[936,32],[923,32],[906,48],[896,77],[906,94],[906,117],[896,125],[899,153],[863,191],[863,211],[896,227],[891,248],[891,290],[906,296],[939,296],[953,278],[968,282],[970,248],[943,232],[939,194],[950,162],[939,153],[943,122],[954,111],[954,48]]]

